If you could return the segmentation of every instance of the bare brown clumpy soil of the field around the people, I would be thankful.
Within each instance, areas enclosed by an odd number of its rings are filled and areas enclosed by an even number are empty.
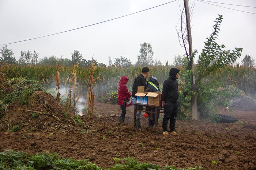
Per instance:
[[[178,120],[176,129],[180,135],[163,137],[161,117],[158,127],[148,131],[147,119],[142,116],[143,129],[138,131],[132,125],[133,107],[128,108],[127,124],[120,125],[118,105],[96,105],[100,117],[82,118],[90,125],[89,130],[0,132],[0,151],[58,152],[61,157],[88,158],[105,168],[114,164],[113,157],[134,157],[177,168],[256,169],[256,111],[227,110],[228,115],[239,119],[229,124]]]

